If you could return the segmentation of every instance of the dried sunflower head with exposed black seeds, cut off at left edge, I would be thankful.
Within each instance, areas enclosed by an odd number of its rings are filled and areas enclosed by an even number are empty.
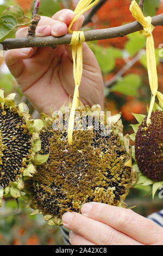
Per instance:
[[[21,197],[23,177],[32,176],[32,161],[41,148],[39,126],[28,114],[28,107],[16,106],[15,94],[4,97],[0,89],[0,204],[3,196]]]

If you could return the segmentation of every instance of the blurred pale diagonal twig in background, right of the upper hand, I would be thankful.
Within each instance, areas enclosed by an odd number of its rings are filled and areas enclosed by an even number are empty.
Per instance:
[[[129,62],[123,66],[123,68],[117,72],[117,74],[112,77],[109,81],[105,82],[105,87],[111,87],[121,76],[124,75],[124,73],[131,68],[138,60],[140,60],[140,57],[145,54],[145,50],[141,50],[137,55],[129,60]]]

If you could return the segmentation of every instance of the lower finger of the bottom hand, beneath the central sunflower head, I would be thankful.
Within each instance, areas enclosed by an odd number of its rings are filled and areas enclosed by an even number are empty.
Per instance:
[[[140,245],[129,236],[77,212],[66,212],[62,216],[66,228],[73,230],[96,245]]]

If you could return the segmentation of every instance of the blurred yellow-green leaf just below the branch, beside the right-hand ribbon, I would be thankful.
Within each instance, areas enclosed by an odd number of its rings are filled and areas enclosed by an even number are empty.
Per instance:
[[[129,52],[130,56],[134,56],[142,48],[146,46],[145,36],[140,35],[139,32],[131,33],[127,35],[129,40],[125,44],[126,50]]]

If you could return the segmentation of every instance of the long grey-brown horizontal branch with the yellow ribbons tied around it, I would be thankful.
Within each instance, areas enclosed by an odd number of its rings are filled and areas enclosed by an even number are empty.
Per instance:
[[[163,26],[163,14],[154,16],[152,18],[153,26]],[[106,28],[106,29],[96,29],[92,31],[84,32],[86,41],[94,41],[94,40],[102,40],[109,38],[117,38],[121,37],[136,31],[140,31],[142,26],[139,22],[134,21],[128,23],[126,25],[114,28]],[[60,37],[54,36],[44,36],[44,37],[36,37],[29,39],[27,37],[24,38],[14,38],[14,39],[5,39],[1,42],[3,45],[3,50],[16,49],[16,48],[24,48],[24,47],[52,47],[55,48],[57,45],[68,45],[71,42],[72,34],[66,34]]]

